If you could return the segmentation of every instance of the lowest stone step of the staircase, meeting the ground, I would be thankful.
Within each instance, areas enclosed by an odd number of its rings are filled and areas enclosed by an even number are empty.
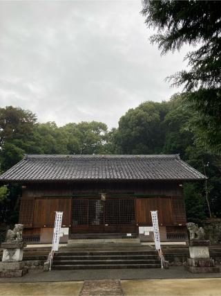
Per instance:
[[[87,269],[120,269],[120,268],[161,268],[159,264],[99,264],[99,265],[52,265],[52,270],[87,270]]]

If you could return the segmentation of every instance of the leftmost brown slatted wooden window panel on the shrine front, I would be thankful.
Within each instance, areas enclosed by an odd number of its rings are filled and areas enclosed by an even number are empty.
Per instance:
[[[32,227],[35,200],[21,200],[19,223],[24,227]]]

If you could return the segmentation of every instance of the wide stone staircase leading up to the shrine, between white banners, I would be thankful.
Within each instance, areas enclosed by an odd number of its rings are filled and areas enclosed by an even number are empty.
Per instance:
[[[125,248],[126,249],[126,248]],[[55,254],[52,270],[161,268],[153,250],[90,250]]]

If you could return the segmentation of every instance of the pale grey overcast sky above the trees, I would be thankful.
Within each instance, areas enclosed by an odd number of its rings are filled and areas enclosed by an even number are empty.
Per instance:
[[[161,56],[135,1],[1,1],[0,105],[57,125],[116,127],[129,108],[168,100],[166,76],[187,49]]]

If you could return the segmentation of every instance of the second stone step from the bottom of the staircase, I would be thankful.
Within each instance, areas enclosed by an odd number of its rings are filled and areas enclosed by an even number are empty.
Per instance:
[[[53,266],[55,265],[122,265],[122,264],[159,264],[159,260],[142,260],[142,259],[115,259],[115,260],[60,260],[54,261]]]

